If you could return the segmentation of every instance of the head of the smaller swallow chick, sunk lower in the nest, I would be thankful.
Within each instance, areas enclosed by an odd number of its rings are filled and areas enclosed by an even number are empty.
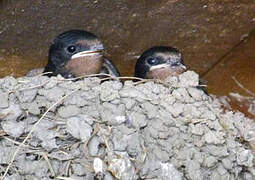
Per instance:
[[[182,54],[173,47],[155,46],[146,50],[137,60],[135,77],[164,80],[186,71]]]

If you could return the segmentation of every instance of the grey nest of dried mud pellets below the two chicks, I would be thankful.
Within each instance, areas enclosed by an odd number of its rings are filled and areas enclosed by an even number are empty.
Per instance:
[[[6,179],[254,179],[251,120],[196,85],[0,79],[0,173],[20,146]]]

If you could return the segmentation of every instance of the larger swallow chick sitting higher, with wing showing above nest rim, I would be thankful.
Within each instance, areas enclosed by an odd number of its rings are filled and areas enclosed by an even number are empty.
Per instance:
[[[91,74],[109,74],[119,77],[116,66],[103,56],[104,46],[93,33],[69,30],[59,34],[51,44],[45,68],[34,69],[27,76],[40,72],[47,76],[62,75],[74,78]]]

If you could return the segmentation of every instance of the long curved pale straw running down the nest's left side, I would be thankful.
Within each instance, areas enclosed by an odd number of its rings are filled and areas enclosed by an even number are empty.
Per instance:
[[[64,97],[62,97],[61,99],[59,99],[57,102],[55,102],[53,105],[51,105],[51,106],[49,107],[49,109],[47,109],[47,111],[42,115],[42,117],[34,124],[34,126],[33,126],[32,129],[31,129],[31,131],[28,133],[27,137],[22,141],[22,143],[18,146],[17,150],[14,152],[14,154],[13,154],[13,156],[12,156],[12,158],[11,158],[11,161],[10,161],[10,163],[8,164],[8,166],[7,166],[7,168],[6,168],[5,172],[4,172],[4,175],[2,176],[1,180],[4,180],[5,176],[7,175],[8,171],[9,171],[9,169],[10,169],[12,163],[13,163],[13,161],[15,160],[15,157],[17,156],[17,154],[18,154],[18,152],[19,152],[19,150],[20,150],[20,148],[21,148],[21,146],[23,146],[23,145],[26,143],[26,141],[28,140],[28,138],[29,138],[29,137],[32,135],[32,133],[35,131],[36,126],[41,122],[41,120],[46,116],[46,114],[47,114],[52,108],[54,108],[57,104],[59,104],[60,102],[62,102],[65,98],[67,98],[68,96],[70,96],[71,94],[73,94],[73,93],[76,92],[76,91],[78,91],[78,89],[75,90],[75,91],[73,91],[73,92],[71,92],[71,93],[69,93],[69,94],[67,94],[67,95],[65,95]]]

